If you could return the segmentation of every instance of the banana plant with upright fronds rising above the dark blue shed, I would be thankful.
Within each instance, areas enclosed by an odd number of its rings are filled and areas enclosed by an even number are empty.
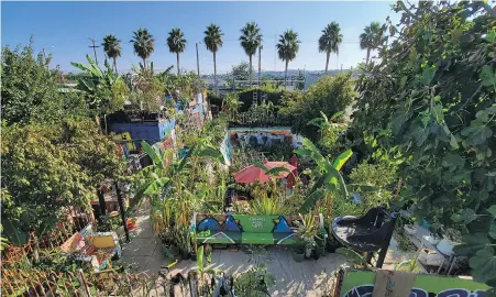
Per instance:
[[[113,72],[106,59],[104,70],[89,56],[86,55],[88,65],[80,63],[70,64],[85,72],[87,77],[78,79],[77,88],[86,94],[87,105],[98,113],[111,113],[121,110],[124,106],[129,90],[122,79]]]

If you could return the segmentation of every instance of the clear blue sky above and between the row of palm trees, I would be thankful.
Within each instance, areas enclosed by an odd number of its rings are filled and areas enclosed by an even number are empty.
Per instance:
[[[155,52],[151,61],[156,69],[175,65],[176,57],[166,46],[167,32],[180,28],[188,41],[181,54],[181,68],[196,70],[195,42],[203,38],[210,23],[218,24],[224,33],[224,44],[218,53],[218,73],[227,73],[231,66],[247,61],[238,41],[240,29],[254,21],[264,35],[262,69],[284,70],[284,64],[275,56],[275,35],[287,29],[295,30],[301,41],[290,69],[321,70],[326,55],[318,52],[317,41],[326,24],[340,24],[343,43],[340,54],[331,55],[329,68],[350,68],[365,59],[360,50],[359,35],[372,21],[399,15],[390,11],[393,2],[1,2],[2,45],[26,44],[34,35],[35,48],[45,47],[53,54],[52,65],[64,72],[75,70],[70,62],[86,62],[92,54],[90,37],[101,42],[106,34],[122,40],[122,57],[119,70],[129,70],[140,58],[134,55],[129,41],[137,28],[146,28],[154,35]],[[99,61],[103,52],[97,48]],[[212,55],[199,44],[201,74],[213,73]],[[256,59],[257,61],[257,57]],[[276,62],[274,64],[274,62]]]

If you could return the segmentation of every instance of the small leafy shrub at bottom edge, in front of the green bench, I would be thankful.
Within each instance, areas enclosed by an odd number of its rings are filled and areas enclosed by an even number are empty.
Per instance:
[[[265,265],[257,265],[234,278],[234,290],[240,296],[271,296],[267,288],[275,284],[275,278]]]

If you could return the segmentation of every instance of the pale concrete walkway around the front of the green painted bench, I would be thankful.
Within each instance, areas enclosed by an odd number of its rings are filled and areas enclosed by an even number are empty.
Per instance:
[[[145,208],[133,216],[136,229],[131,242],[122,246],[122,260],[137,264],[140,272],[157,275],[159,268],[169,261],[162,253],[161,240],[153,234],[150,210]],[[264,264],[275,277],[275,285],[269,288],[272,296],[326,296],[332,285],[332,272],[344,264],[340,254],[328,254],[318,261],[293,260],[291,252],[283,246],[271,246],[262,253],[247,254],[243,251],[213,250],[211,267],[219,268],[228,275],[247,271],[256,264]],[[196,262],[180,261],[172,270],[173,274],[187,275],[195,268]]]

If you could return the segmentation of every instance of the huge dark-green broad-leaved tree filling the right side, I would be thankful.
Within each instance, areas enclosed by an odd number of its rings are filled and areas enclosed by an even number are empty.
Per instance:
[[[357,80],[353,127],[388,154],[401,154],[400,201],[433,229],[464,233],[474,279],[496,278],[494,173],[496,23],[484,2],[421,2],[406,8],[395,41]]]

